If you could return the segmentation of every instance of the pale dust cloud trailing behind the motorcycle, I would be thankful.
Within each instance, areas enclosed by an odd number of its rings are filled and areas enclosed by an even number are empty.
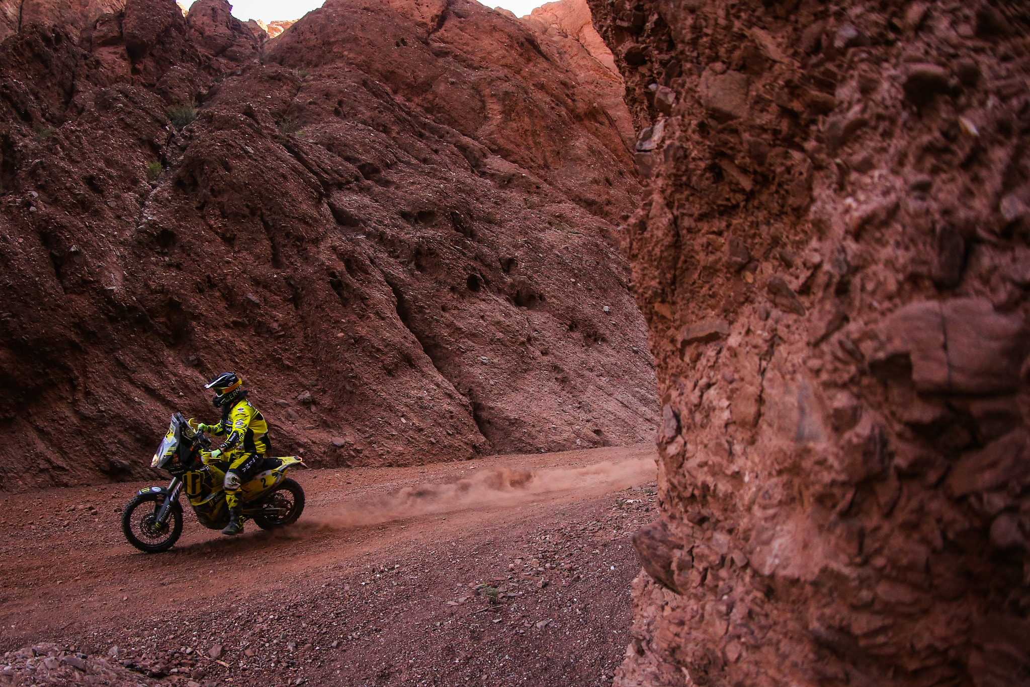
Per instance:
[[[574,492],[578,497],[598,495],[654,479],[655,462],[650,456],[583,468],[485,468],[482,474],[452,483],[406,486],[383,496],[344,504],[319,513],[312,524],[362,527],[437,513],[506,508],[561,492]]]

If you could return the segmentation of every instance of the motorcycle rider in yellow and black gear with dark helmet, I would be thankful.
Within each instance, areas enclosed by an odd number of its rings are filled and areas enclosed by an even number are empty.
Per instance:
[[[271,448],[268,436],[268,423],[265,417],[249,401],[249,391],[240,388],[243,378],[235,372],[224,372],[204,388],[214,390],[211,400],[215,408],[221,409],[221,420],[217,424],[200,423],[197,428],[209,432],[216,437],[229,434],[225,443],[211,451],[211,459],[229,462],[226,471],[225,489],[226,503],[229,504],[229,524],[221,530],[222,535],[238,535],[243,531],[240,524],[240,493],[242,486],[258,472],[265,461],[265,454]]]

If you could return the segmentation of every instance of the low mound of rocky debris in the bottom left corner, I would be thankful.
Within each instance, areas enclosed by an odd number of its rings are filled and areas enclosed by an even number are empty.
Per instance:
[[[3,655],[0,685],[154,685],[138,673],[58,644],[36,644]]]

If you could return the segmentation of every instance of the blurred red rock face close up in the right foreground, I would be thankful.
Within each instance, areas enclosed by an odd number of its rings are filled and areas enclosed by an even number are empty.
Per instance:
[[[1026,680],[1026,15],[591,2],[663,403],[619,685]]]

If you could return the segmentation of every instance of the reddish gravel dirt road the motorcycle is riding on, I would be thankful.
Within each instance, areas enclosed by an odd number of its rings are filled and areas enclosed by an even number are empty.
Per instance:
[[[231,539],[187,513],[158,555],[118,525],[142,484],[4,494],[0,650],[56,642],[183,687],[605,684],[654,471],[651,446],[300,470],[294,527]]]

